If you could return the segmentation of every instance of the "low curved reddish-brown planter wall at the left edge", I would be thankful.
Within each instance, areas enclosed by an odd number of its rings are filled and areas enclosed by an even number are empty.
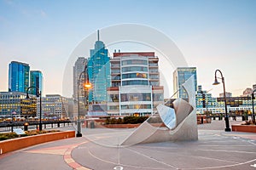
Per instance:
[[[8,139],[0,141],[0,155],[9,151],[20,150],[35,144],[42,144],[58,139],[74,138],[75,131],[44,133],[34,136],[21,137],[17,139]]]

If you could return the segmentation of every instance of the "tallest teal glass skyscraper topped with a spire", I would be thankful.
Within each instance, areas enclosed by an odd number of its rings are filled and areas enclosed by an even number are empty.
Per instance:
[[[88,74],[92,88],[89,92],[89,101],[93,103],[107,103],[107,88],[110,87],[110,64],[108,49],[100,41],[99,31],[95,48],[90,49],[88,59]]]

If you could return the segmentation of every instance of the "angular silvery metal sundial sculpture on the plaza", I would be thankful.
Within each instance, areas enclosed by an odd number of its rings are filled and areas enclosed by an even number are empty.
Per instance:
[[[159,114],[150,116],[140,127],[131,133],[121,145],[145,144],[177,140],[197,140],[197,122],[195,115],[195,86],[194,77],[183,83],[183,88],[189,96],[189,102],[176,99],[173,109],[166,105],[158,105]],[[165,127],[153,125],[160,117]]]

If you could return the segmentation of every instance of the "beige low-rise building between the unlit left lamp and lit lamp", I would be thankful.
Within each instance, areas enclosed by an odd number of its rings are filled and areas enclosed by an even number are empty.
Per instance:
[[[40,100],[37,99],[37,113],[40,114]],[[68,101],[59,94],[42,97],[42,118],[65,119],[68,116]]]

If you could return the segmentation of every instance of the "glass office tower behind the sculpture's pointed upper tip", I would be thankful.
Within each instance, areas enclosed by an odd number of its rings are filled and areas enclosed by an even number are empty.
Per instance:
[[[197,75],[196,67],[177,67],[173,72],[173,93],[176,98],[188,99],[188,94],[182,87],[182,84],[186,82],[189,77],[194,76],[195,78],[195,91],[197,88]]]

